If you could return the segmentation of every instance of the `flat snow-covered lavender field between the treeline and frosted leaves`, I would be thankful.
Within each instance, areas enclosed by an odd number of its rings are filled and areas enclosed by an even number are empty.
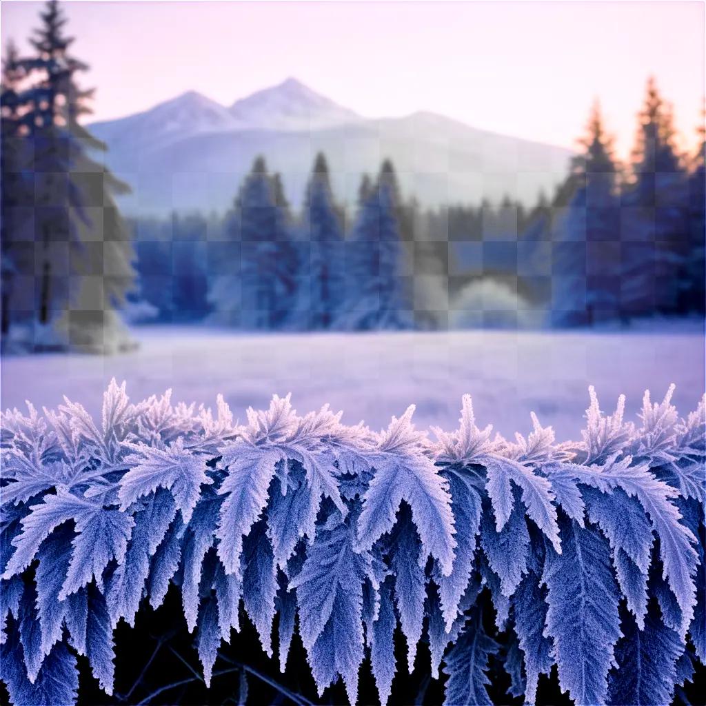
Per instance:
[[[530,411],[560,440],[579,438],[587,387],[603,409],[619,393],[634,414],[645,388],[661,399],[669,383],[681,414],[704,392],[702,325],[666,332],[376,333],[239,335],[202,328],[140,328],[140,348],[118,357],[46,354],[1,361],[0,403],[56,407],[62,395],[100,411],[110,378],[128,381],[139,400],[173,388],[173,400],[213,405],[223,393],[236,417],[291,392],[309,412],[329,402],[343,419],[374,429],[416,404],[420,426],[451,428],[463,393],[473,397],[479,424],[512,435],[530,428]],[[99,416],[100,418],[100,416]]]

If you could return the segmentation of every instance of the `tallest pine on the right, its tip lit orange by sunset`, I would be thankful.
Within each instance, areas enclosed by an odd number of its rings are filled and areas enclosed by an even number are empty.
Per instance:
[[[671,108],[654,78],[639,114],[630,182],[622,193],[622,290],[626,316],[674,313],[688,256],[688,182],[674,144]]]

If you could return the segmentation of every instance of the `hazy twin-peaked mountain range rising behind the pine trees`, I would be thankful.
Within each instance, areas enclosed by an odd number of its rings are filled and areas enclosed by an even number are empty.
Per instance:
[[[319,151],[344,203],[355,203],[362,174],[375,174],[389,157],[403,193],[421,205],[505,195],[529,205],[566,177],[573,154],[431,112],[365,118],[294,78],[230,107],[189,91],[88,128],[107,144],[107,165],[133,189],[119,198],[129,215],[223,212],[258,155],[282,174],[297,207]]]

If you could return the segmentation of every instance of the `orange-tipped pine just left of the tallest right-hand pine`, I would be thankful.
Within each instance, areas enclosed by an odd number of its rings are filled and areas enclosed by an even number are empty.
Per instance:
[[[552,246],[554,325],[591,324],[616,317],[620,286],[620,208],[612,140],[594,104],[566,182],[566,209]]]

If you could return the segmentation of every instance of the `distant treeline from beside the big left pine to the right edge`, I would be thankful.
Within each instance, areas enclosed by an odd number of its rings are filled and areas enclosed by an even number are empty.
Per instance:
[[[652,80],[629,164],[594,107],[566,181],[532,208],[507,196],[424,209],[385,161],[345,210],[318,155],[293,213],[258,159],[225,217],[133,221],[131,315],[295,330],[702,315],[703,132],[695,155],[675,138]]]

